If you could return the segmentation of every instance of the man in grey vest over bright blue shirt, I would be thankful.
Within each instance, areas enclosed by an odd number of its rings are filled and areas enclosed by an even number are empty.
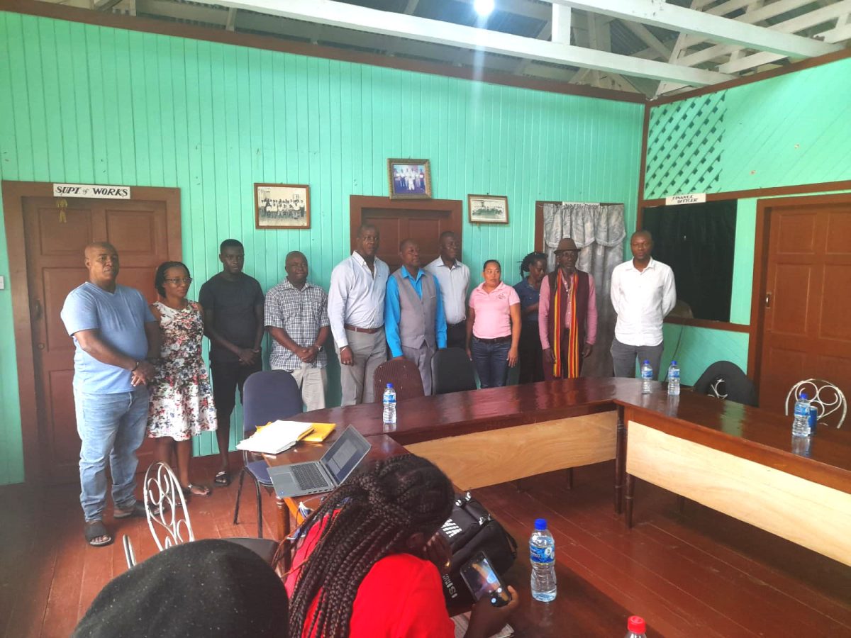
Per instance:
[[[420,268],[420,248],[412,239],[399,245],[402,267],[387,280],[384,329],[394,359],[417,364],[426,396],[431,395],[431,359],[446,347],[446,316],[440,284]]]

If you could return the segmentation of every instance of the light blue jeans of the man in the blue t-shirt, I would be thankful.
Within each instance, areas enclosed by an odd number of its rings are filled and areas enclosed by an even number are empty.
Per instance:
[[[136,450],[145,440],[148,389],[89,394],[74,388],[80,435],[80,504],[86,521],[100,520],[106,506],[106,462],[112,475],[112,503],[122,509],[136,503]]]

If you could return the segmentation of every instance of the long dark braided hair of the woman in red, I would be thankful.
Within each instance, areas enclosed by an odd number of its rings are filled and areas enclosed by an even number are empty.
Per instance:
[[[323,526],[300,566],[289,635],[346,638],[357,589],[369,570],[386,555],[407,551],[411,534],[431,538],[452,514],[453,499],[447,476],[414,454],[378,461],[330,493],[300,529],[306,538],[311,527]],[[294,546],[283,551],[294,559]]]

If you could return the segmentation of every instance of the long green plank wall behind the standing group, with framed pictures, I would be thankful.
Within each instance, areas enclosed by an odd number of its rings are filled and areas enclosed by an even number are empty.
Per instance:
[[[510,225],[465,221],[463,259],[474,273],[500,259],[516,282],[536,200],[625,202],[634,225],[641,126],[641,105],[0,13],[0,177],[180,187],[191,295],[227,237],[265,289],[294,249],[327,287],[349,196],[386,196],[388,157],[431,159],[435,197],[508,196]],[[310,184],[311,230],[256,231],[254,182]],[[0,291],[0,325],[23,285]],[[2,484],[24,476],[8,329],[0,376]]]

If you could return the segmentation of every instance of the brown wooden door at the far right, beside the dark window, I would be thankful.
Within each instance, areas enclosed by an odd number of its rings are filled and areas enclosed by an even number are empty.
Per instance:
[[[797,381],[851,390],[851,197],[799,198],[768,214],[760,407],[781,411]],[[842,198],[839,198],[842,199]]]

